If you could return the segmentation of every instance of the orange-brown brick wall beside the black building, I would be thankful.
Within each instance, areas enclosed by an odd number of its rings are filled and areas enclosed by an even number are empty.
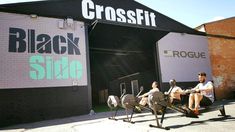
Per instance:
[[[205,30],[233,37],[208,37],[216,98],[231,98],[235,91],[235,18],[207,23]]]

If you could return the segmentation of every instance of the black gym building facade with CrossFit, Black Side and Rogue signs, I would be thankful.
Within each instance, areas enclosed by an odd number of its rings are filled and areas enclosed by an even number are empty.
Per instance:
[[[134,0],[0,5],[0,125],[88,114],[107,96],[197,73],[211,78],[204,33]],[[194,68],[192,68],[194,67]]]

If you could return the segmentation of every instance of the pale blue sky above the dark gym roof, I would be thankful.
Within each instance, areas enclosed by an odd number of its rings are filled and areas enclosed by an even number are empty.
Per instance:
[[[16,3],[38,0],[0,0]],[[235,0],[135,0],[189,27],[235,16]]]

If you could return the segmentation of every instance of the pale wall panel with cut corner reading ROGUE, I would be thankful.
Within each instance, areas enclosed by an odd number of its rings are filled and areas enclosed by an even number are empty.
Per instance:
[[[169,33],[157,43],[162,82],[198,81],[204,71],[212,79],[208,44],[205,36]]]

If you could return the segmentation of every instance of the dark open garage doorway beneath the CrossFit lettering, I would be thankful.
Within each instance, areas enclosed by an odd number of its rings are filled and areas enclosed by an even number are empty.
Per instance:
[[[89,31],[93,105],[105,103],[107,96],[120,96],[122,84],[132,94],[131,81],[138,92],[151,88],[158,79],[156,42],[167,32],[97,23]]]

